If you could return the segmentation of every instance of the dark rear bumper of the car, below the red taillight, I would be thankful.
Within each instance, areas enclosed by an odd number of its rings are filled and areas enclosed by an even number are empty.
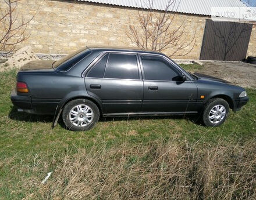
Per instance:
[[[18,95],[16,90],[12,90],[10,100],[12,100],[14,106],[21,108],[22,110],[31,110],[33,108],[31,97]]]

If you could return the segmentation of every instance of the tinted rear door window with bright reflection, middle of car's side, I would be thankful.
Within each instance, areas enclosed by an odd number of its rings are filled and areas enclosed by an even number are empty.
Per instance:
[[[136,54],[109,54],[104,78],[139,79]]]

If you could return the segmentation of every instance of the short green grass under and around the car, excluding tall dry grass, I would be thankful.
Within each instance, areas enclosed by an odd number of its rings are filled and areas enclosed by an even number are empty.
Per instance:
[[[230,112],[218,128],[186,117],[103,118],[88,132],[71,132],[61,121],[51,129],[52,117],[17,112],[10,101],[15,77],[15,70],[0,72],[0,199],[22,199],[38,191],[48,172],[81,149],[147,146],[159,140],[208,148],[218,141],[243,145],[256,136],[256,89],[247,90],[250,102],[241,111]],[[130,162],[137,159],[131,155]]]

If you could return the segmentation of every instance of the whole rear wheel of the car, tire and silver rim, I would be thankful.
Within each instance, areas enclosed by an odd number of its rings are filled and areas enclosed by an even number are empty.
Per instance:
[[[90,100],[75,99],[65,105],[63,122],[70,130],[90,130],[99,119],[99,109]]]

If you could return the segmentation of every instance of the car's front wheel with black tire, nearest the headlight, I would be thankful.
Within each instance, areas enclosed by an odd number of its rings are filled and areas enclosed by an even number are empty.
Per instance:
[[[225,110],[223,110],[222,112],[218,111],[216,114],[212,114],[211,110],[215,109],[214,107],[218,106],[218,105],[223,106],[225,108]],[[221,116],[224,111],[225,111],[225,116],[223,115],[223,119],[221,119],[222,118]],[[211,114],[210,114],[210,112],[211,112]],[[202,114],[202,121],[204,122],[204,124],[206,126],[210,126],[210,127],[220,126],[220,125],[222,125],[223,122],[225,122],[228,115],[229,115],[229,104],[227,103],[227,101],[225,101],[224,99],[221,99],[221,98],[213,98],[213,99],[210,99],[207,102],[207,104],[205,104],[204,112]],[[213,117],[214,119],[209,119],[209,117]],[[218,118],[218,119],[216,119],[216,118]],[[216,119],[216,121],[214,122],[215,119]]]

